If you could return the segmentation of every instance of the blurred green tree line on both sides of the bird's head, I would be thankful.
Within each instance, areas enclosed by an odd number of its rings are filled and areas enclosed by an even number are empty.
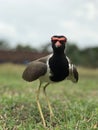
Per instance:
[[[44,44],[39,48],[31,47],[30,45],[17,44],[16,47],[11,48],[8,42],[0,41],[0,50],[16,50],[16,51],[32,51],[50,53],[52,52],[51,43]],[[98,46],[80,49],[76,43],[67,43],[66,55],[73,63],[79,66],[98,68]]]

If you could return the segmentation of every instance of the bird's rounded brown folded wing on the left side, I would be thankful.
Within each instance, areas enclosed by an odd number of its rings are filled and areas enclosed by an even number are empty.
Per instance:
[[[47,71],[47,65],[39,61],[31,62],[24,70],[22,78],[28,82],[38,79]]]

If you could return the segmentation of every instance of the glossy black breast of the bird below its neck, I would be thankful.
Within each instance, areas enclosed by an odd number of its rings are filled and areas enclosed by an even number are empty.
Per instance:
[[[62,81],[69,75],[66,56],[52,56],[49,59],[49,67],[52,73],[50,79],[54,82]]]

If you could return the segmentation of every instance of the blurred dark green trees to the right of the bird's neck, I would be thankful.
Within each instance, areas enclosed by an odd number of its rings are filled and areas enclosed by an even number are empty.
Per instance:
[[[81,50],[75,43],[68,43],[66,53],[76,65],[98,67],[98,47]]]

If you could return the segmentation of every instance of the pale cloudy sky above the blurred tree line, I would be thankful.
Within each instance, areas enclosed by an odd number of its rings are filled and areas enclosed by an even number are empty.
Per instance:
[[[40,48],[53,35],[98,46],[98,0],[0,0],[0,40]]]

